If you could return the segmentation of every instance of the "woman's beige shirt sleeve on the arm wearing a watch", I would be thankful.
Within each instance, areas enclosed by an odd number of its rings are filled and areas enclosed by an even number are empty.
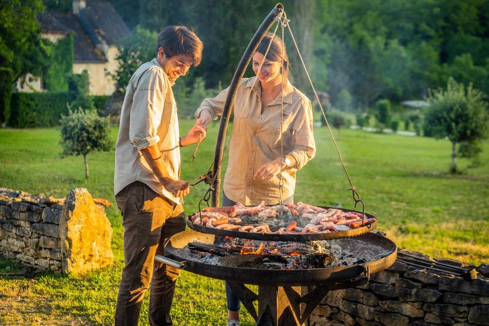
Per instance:
[[[295,130],[295,142],[293,150],[288,153],[296,160],[295,168],[302,169],[316,154],[316,143],[312,131],[312,106],[308,99],[303,100],[303,107],[297,114],[293,128]]]

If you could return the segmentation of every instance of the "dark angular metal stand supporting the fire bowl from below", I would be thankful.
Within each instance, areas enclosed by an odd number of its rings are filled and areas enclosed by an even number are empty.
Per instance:
[[[258,286],[258,295],[243,284],[230,283],[257,326],[301,326],[328,294],[328,286],[317,286],[302,296],[300,286]],[[258,300],[258,312],[253,302]],[[301,304],[304,309],[301,310]]]

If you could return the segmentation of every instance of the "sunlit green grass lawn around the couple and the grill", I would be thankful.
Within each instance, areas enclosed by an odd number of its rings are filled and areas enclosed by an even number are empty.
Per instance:
[[[182,133],[193,121],[181,121]],[[182,149],[182,178],[197,180],[209,168],[217,124],[199,147]],[[336,131],[335,131],[336,134]],[[117,128],[112,138],[117,137]],[[298,172],[295,201],[352,208],[349,184],[337,158],[328,130],[315,130],[317,154]],[[378,217],[378,229],[387,231],[400,247],[434,257],[449,257],[473,264],[489,260],[489,144],[484,143],[483,165],[468,168],[457,159],[463,174],[447,173],[450,144],[431,138],[342,130],[338,142],[351,179],[366,211]],[[113,198],[114,151],[88,156],[90,179],[84,179],[83,157],[59,158],[59,131],[0,129],[0,186],[37,194],[64,197],[69,189],[86,187],[94,197]],[[223,169],[223,171],[225,168]],[[196,210],[205,184],[192,189],[186,211]],[[121,216],[106,209],[114,228],[112,266],[83,276],[45,273],[35,279],[0,278],[0,324],[111,325],[123,266]],[[16,263],[0,259],[0,271]],[[225,324],[224,284],[182,273],[175,294],[174,324]],[[146,297],[140,324],[147,324]],[[244,311],[244,310],[242,310]],[[252,325],[247,313],[243,325]]]

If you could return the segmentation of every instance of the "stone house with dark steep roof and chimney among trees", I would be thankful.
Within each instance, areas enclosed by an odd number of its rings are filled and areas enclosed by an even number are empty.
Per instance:
[[[74,0],[71,12],[45,11],[39,16],[41,37],[57,43],[73,34],[73,73],[87,70],[90,95],[111,95],[115,83],[106,72],[118,63],[116,41],[129,35],[127,25],[112,4]],[[18,92],[44,91],[42,77],[26,74],[16,80]]]

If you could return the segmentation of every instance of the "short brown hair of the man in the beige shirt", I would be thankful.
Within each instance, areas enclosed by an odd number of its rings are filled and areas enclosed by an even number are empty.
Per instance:
[[[185,26],[168,26],[158,34],[156,42],[156,55],[162,47],[165,56],[171,58],[176,55],[185,55],[193,58],[193,65],[198,66],[202,60],[202,41],[195,33]]]

